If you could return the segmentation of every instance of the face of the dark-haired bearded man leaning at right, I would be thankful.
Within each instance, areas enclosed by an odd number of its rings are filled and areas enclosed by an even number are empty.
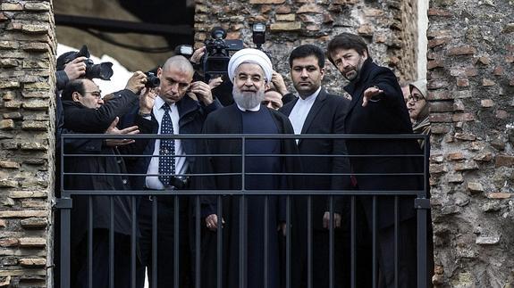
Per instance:
[[[355,49],[336,49],[331,56],[337,70],[349,81],[358,77],[358,72],[367,60],[366,51],[361,55]]]

